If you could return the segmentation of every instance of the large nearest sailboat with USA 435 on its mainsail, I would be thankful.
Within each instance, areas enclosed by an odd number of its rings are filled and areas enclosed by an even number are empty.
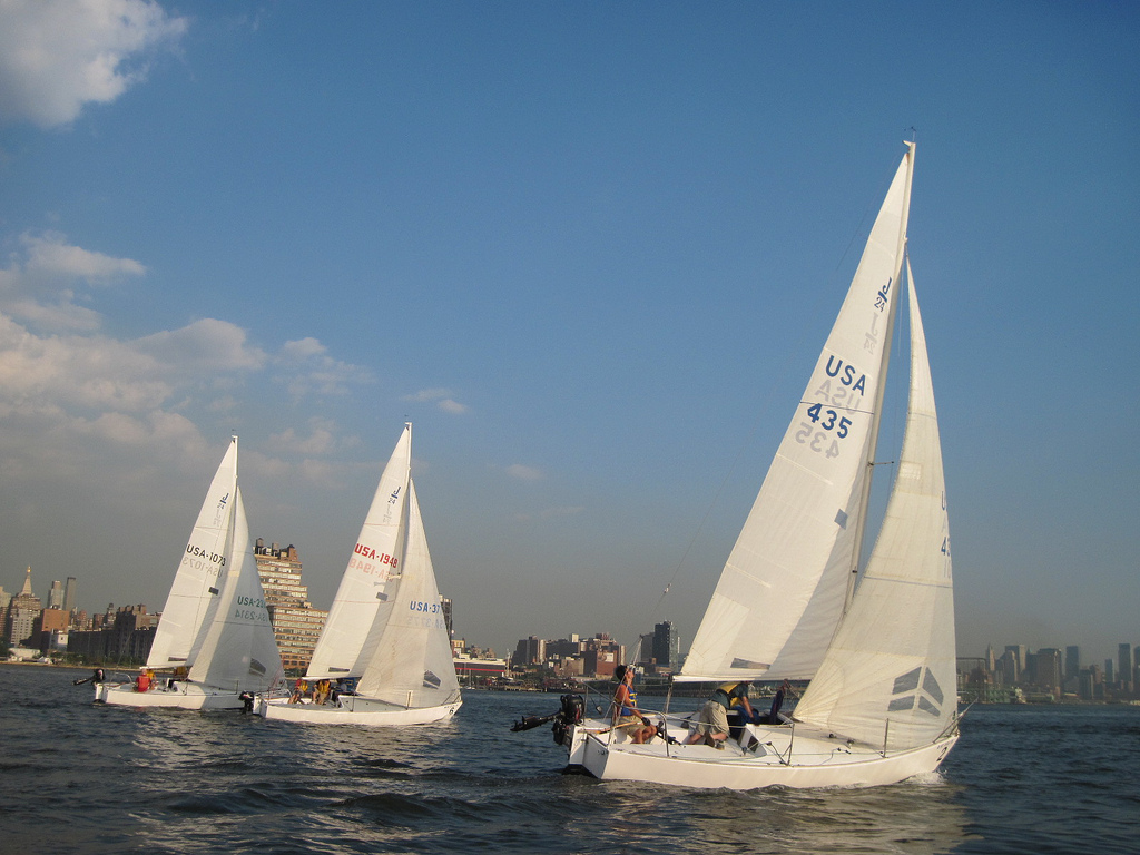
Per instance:
[[[956,742],[945,481],[906,259],[913,162],[911,142],[676,677],[811,681],[793,714],[731,728],[719,747],[686,744],[693,717],[656,714],[660,733],[634,744],[611,722],[583,718],[583,705],[568,695],[555,738],[562,735],[571,767],[699,788],[868,787],[933,772]],[[861,568],[904,269],[906,429],[882,524]]]

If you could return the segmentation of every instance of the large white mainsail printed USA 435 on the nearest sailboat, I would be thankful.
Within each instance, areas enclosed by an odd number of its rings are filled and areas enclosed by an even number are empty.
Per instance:
[[[678,679],[811,678],[836,630],[865,513],[912,160],[913,147]]]

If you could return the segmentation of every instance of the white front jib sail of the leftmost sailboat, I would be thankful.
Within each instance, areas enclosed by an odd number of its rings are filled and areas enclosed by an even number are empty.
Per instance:
[[[250,544],[241,489],[234,507],[231,543],[217,611],[189,678],[226,691],[263,692],[280,675],[282,660]]]

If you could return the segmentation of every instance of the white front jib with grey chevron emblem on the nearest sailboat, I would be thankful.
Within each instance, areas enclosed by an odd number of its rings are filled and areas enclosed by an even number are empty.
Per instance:
[[[950,524],[914,280],[906,433],[858,591],[796,718],[889,750],[930,743],[958,709]],[[886,723],[885,723],[886,722]]]

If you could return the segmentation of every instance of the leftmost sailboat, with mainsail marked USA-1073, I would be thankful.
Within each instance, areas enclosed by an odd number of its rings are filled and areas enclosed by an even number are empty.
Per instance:
[[[162,674],[145,691],[138,682],[96,684],[96,700],[241,709],[280,679],[280,653],[237,487],[237,437],[206,491],[144,670]]]

